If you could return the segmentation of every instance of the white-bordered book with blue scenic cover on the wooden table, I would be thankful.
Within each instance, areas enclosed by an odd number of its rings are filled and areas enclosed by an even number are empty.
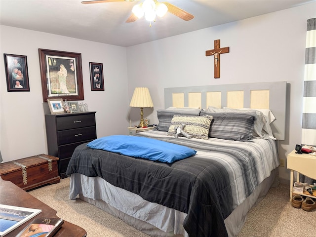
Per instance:
[[[13,231],[40,212],[40,209],[0,204],[0,237]]]

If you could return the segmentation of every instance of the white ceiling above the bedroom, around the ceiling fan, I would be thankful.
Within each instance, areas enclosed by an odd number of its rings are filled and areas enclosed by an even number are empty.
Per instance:
[[[0,0],[0,24],[127,47],[312,1],[168,0],[195,18],[184,21],[167,12],[149,27],[144,17],[125,23],[137,1],[82,4],[80,0]]]

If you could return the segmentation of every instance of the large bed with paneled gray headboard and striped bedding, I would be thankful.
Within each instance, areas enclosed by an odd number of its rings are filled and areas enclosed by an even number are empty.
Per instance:
[[[133,137],[181,145],[196,155],[166,163],[81,144],[67,168],[70,198],[79,195],[150,236],[237,236],[277,177],[286,82],[166,88],[165,107],[157,111],[156,130]],[[182,119],[189,121],[189,139],[175,137]]]

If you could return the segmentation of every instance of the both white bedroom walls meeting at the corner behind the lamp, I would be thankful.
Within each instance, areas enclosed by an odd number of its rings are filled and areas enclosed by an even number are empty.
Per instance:
[[[313,2],[127,48],[1,26],[1,55],[27,55],[31,88],[30,92],[6,91],[1,56],[4,161],[47,153],[38,48],[82,54],[84,102],[90,111],[97,111],[98,137],[127,134],[129,119],[138,122],[139,109],[129,108],[137,86],[149,87],[155,107],[144,108],[144,117],[157,123],[156,110],[164,108],[165,87],[287,81],[287,138],[279,143],[279,157],[286,159],[301,143],[306,24],[316,17],[315,9]],[[17,32],[23,37],[12,37]],[[205,51],[213,49],[218,39],[222,47],[230,47],[230,53],[221,56],[221,78],[214,79],[214,57],[205,57]],[[103,63],[104,92],[90,91],[89,62]],[[288,170],[280,168],[279,176],[289,180]]]

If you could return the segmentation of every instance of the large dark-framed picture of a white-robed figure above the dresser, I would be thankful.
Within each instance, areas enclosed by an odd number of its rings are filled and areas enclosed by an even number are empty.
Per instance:
[[[81,53],[39,48],[43,101],[83,100]]]

